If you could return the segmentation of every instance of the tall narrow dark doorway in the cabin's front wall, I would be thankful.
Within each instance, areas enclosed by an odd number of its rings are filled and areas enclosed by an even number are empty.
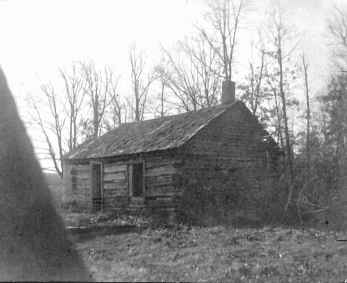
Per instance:
[[[91,163],[92,166],[92,211],[100,211],[103,205],[102,196],[102,164]]]

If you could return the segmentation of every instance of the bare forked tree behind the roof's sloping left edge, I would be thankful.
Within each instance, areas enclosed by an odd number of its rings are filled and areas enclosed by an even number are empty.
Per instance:
[[[81,67],[86,81],[85,92],[90,98],[89,101],[92,106],[92,136],[96,138],[101,134],[103,115],[111,102],[108,99],[111,83],[110,70],[106,66],[103,70],[97,70],[93,61],[81,63]]]

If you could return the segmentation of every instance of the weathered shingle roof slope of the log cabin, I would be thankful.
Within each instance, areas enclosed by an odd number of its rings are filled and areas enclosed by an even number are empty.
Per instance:
[[[244,106],[237,101],[153,120],[120,124],[103,136],[79,145],[64,158],[94,159],[177,148],[211,120],[237,105]]]

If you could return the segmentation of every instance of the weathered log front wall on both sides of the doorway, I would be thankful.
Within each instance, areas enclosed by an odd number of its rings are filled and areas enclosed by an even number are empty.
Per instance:
[[[130,197],[131,165],[144,161],[145,199]],[[104,209],[144,209],[149,207],[171,208],[173,198],[181,195],[177,186],[178,168],[182,161],[169,156],[141,156],[128,161],[103,161],[103,208]],[[73,175],[76,170],[76,185]],[[75,203],[78,207],[91,209],[92,184],[90,165],[65,163],[65,203]]]

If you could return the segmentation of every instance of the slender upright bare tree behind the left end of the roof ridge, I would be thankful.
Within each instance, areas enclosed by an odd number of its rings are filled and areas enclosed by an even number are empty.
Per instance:
[[[155,81],[155,70],[145,73],[146,56],[144,51],[137,50],[136,43],[130,45],[129,60],[132,95],[128,97],[128,105],[132,109],[132,116],[135,115],[133,120],[137,122],[144,118],[144,108],[149,88]]]

